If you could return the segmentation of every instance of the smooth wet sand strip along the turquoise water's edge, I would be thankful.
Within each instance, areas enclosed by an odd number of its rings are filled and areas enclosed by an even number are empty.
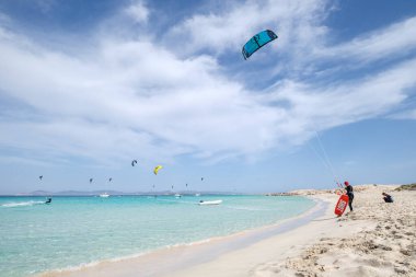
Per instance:
[[[222,255],[229,252],[239,251],[247,247],[251,244],[258,243],[270,236],[279,235],[280,233],[288,232],[307,224],[311,220],[322,217],[327,210],[328,203],[322,199],[310,196],[301,196],[310,198],[314,201],[314,206],[309,210],[301,212],[291,218],[280,220],[276,223],[263,226],[254,229],[247,229],[238,233],[212,236],[201,241],[195,241],[187,244],[171,245],[147,253],[134,254],[125,257],[117,257],[105,261],[92,262],[85,265],[76,267],[69,267],[63,269],[53,269],[49,272],[41,273],[35,276],[38,277],[51,277],[51,276],[137,276],[135,272],[135,265],[138,264],[140,268],[146,267],[147,270],[140,272],[140,276],[163,276],[163,274],[172,274],[172,269],[188,267],[194,264],[204,264],[213,261],[218,255]],[[189,256],[187,256],[189,253]],[[175,264],[170,264],[171,255],[185,255],[182,261],[175,259]],[[158,267],[158,264],[164,263],[163,268]],[[117,267],[117,268],[116,268]],[[129,270],[122,270],[118,267],[131,268]],[[111,269],[112,268],[112,269]],[[109,273],[114,269],[114,274]],[[126,275],[127,274],[127,275]]]

